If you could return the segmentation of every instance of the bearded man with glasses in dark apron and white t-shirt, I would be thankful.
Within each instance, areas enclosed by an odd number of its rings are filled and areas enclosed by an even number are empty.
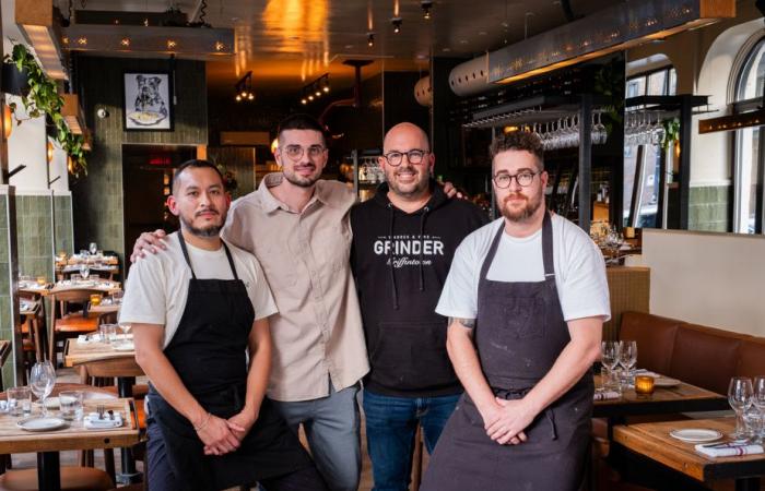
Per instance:
[[[436,308],[451,318],[447,348],[467,394],[422,489],[575,491],[610,318],[604,262],[546,211],[537,135],[504,135],[492,155],[503,217],[460,244]]]

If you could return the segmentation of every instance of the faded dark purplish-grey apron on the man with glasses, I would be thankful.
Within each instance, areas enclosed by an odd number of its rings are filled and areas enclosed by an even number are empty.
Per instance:
[[[550,214],[542,226],[544,282],[486,278],[504,226],[481,267],[475,346],[494,394],[522,398],[550,371],[570,340],[555,286]],[[519,258],[518,261],[523,261]],[[528,441],[499,445],[466,393],[438,441],[423,491],[575,491],[586,465],[592,414],[588,371],[525,430]]]

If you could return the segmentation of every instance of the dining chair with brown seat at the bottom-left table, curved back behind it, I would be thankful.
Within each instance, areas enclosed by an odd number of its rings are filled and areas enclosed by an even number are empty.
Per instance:
[[[63,391],[82,391],[85,399],[110,399],[116,396],[109,391],[82,384],[56,384],[51,396]],[[4,395],[4,394],[0,394]],[[62,466],[61,491],[107,491],[114,488],[115,462],[114,450],[104,448],[105,470],[91,466]],[[37,469],[9,469],[0,475],[0,491],[37,490]]]

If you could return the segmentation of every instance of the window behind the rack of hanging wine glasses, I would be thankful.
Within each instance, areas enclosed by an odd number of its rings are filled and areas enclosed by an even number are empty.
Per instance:
[[[666,67],[648,73],[632,76],[627,80],[627,98],[644,95],[675,95],[678,88],[678,72],[672,67]],[[639,168],[636,146],[624,147],[624,224],[632,209],[633,190],[637,185],[639,191],[637,199],[637,216],[633,219],[635,227],[655,227],[659,213],[659,170],[661,160],[661,147],[659,145],[646,145],[642,173]]]

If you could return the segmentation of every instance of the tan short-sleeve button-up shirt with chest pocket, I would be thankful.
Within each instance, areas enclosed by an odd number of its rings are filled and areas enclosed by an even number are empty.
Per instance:
[[[309,400],[329,395],[328,380],[340,391],[369,370],[349,262],[355,195],[341,182],[319,180],[295,213],[269,191],[282,178],[270,173],[236,200],[223,237],[257,256],[279,309],[270,319],[269,397]]]

